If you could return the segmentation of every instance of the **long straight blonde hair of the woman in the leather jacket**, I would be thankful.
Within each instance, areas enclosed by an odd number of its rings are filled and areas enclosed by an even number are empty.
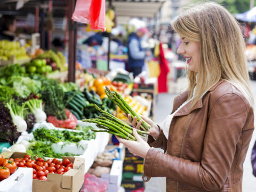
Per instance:
[[[198,73],[186,70],[188,99],[193,97],[191,107],[221,79],[234,84],[254,107],[243,35],[224,7],[213,2],[187,7],[172,21],[172,27],[178,34],[200,42]]]

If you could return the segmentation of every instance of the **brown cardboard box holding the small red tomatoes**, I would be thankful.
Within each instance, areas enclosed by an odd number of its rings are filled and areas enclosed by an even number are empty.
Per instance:
[[[14,152],[12,158],[24,157],[26,153]],[[33,179],[33,192],[78,192],[84,183],[84,158],[62,157],[73,162],[73,169],[62,174],[47,174],[47,181]],[[28,168],[30,169],[30,168]]]

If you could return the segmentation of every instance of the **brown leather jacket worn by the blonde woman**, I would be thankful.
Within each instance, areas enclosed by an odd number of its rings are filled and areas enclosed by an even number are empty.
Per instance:
[[[188,91],[178,95],[172,113],[187,98]],[[242,191],[254,130],[250,103],[235,86],[220,81],[191,110],[189,106],[174,115],[168,140],[163,131],[156,140],[148,137],[143,181],[166,177],[166,191]]]

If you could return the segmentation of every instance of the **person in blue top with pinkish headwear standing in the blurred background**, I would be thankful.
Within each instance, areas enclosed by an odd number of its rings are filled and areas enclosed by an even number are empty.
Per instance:
[[[146,53],[141,47],[141,38],[149,35],[147,27],[142,27],[136,33],[131,33],[128,38],[128,66],[129,70],[133,73],[133,77],[141,73],[142,67],[145,62]]]

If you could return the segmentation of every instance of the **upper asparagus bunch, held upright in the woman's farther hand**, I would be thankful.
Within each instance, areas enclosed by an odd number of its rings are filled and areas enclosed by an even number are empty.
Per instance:
[[[123,99],[123,97],[117,93],[116,91],[110,91],[108,87],[106,87],[105,92],[109,99],[111,99],[113,102],[118,105],[124,111],[126,115],[130,114],[132,116],[132,119],[134,117],[137,117],[137,121],[142,121],[140,128],[143,131],[148,131],[150,129],[150,125],[147,124],[137,113],[132,109],[132,107]]]

